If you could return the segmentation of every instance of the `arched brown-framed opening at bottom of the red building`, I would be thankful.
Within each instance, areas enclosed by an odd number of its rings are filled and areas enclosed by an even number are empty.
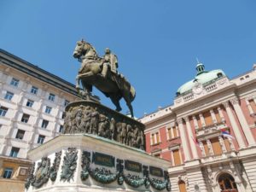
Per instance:
[[[228,192],[228,191],[237,192],[238,191],[236,188],[236,182],[234,177],[232,177],[228,173],[223,173],[218,177],[218,184],[221,189],[221,192]]]

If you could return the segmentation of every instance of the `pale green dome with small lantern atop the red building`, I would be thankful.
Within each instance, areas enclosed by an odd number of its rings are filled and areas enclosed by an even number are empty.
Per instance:
[[[196,84],[207,84],[216,79],[226,76],[224,71],[222,71],[221,69],[212,70],[210,72],[205,71],[204,65],[201,63],[197,64],[196,70],[197,70],[197,75],[195,76],[195,79],[192,79],[189,82],[180,86],[177,90],[177,96],[192,90],[192,88]]]

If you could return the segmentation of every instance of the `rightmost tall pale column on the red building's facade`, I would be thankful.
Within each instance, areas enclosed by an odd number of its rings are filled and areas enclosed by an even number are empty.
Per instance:
[[[244,132],[244,135],[247,138],[247,142],[248,142],[249,146],[255,145],[253,133],[250,130],[249,125],[247,124],[247,119],[245,118],[244,114],[241,111],[241,107],[239,105],[238,98],[234,98],[230,102],[232,103],[233,107],[235,108],[237,118],[239,119],[239,121],[241,123],[242,131]]]

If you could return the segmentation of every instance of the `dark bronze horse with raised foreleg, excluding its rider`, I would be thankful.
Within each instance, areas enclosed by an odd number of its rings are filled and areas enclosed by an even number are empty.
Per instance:
[[[95,86],[102,93],[110,97],[116,107],[116,111],[121,111],[119,100],[123,97],[126,105],[130,109],[131,117],[133,118],[133,108],[131,102],[136,96],[135,89],[125,79],[123,75],[112,73],[108,70],[106,78],[102,76],[102,65],[104,60],[99,57],[94,47],[81,40],[73,52],[73,57],[82,62],[79,74],[76,78],[76,88],[80,90],[80,81],[85,96],[90,96],[92,86]]]

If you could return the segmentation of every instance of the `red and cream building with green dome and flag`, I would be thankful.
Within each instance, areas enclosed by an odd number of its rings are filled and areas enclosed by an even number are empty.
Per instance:
[[[174,104],[145,115],[148,154],[170,160],[172,191],[256,191],[256,70],[197,74]]]

